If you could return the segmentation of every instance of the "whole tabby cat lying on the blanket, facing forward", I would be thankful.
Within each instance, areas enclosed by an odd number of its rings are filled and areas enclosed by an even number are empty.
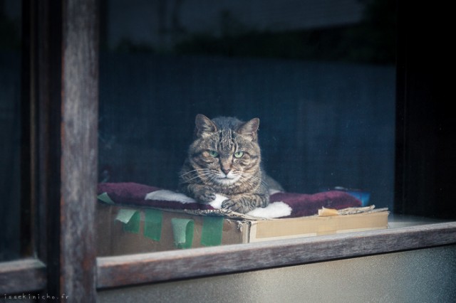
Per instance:
[[[247,213],[269,204],[269,189],[281,186],[261,169],[259,119],[209,119],[197,115],[195,140],[180,171],[180,190],[199,203],[226,197],[222,208]],[[270,188],[271,187],[271,188]]]

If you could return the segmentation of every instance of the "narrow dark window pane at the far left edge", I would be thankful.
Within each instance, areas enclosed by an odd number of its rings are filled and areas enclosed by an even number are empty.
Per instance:
[[[0,261],[20,255],[21,1],[0,1]]]

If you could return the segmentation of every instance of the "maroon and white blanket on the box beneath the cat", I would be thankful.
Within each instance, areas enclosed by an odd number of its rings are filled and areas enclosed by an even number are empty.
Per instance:
[[[220,196],[218,201],[202,204],[182,193],[136,183],[98,184],[98,194],[100,200],[115,204],[180,210],[219,209],[221,201],[224,200],[224,197]],[[316,215],[318,209],[323,207],[342,209],[359,206],[361,201],[343,191],[314,194],[276,192],[271,193],[269,206],[257,208],[247,215],[263,218],[292,218]]]

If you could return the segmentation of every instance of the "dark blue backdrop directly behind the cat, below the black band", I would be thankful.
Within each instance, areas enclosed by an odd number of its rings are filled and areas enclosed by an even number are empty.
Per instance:
[[[393,68],[155,55],[101,64],[105,181],[175,188],[203,113],[259,117],[265,167],[289,191],[346,186],[392,200]]]

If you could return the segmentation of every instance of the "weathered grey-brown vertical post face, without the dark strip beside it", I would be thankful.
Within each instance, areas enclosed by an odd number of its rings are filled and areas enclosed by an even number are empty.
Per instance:
[[[95,302],[98,21],[95,0],[62,6],[60,295]]]

